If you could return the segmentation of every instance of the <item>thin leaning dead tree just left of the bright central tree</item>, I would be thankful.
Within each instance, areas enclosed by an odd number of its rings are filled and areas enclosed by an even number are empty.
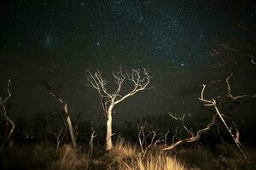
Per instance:
[[[49,82],[44,81],[43,86],[49,92],[49,95],[55,97],[55,99],[57,99],[63,106],[64,116],[67,122],[70,138],[72,141],[72,145],[75,148],[77,146],[77,141],[76,141],[76,137],[73,129],[73,124],[67,110],[67,103],[63,99],[61,99],[61,97],[55,92],[55,89],[50,86]]]

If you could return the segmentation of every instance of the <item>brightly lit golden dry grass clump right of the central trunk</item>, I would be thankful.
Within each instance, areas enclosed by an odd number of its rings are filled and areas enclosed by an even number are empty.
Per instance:
[[[167,156],[162,151],[151,151],[143,155],[136,146],[125,143],[124,139],[118,139],[112,152],[109,154],[111,163],[108,169],[121,170],[184,170],[182,163],[176,158]]]

